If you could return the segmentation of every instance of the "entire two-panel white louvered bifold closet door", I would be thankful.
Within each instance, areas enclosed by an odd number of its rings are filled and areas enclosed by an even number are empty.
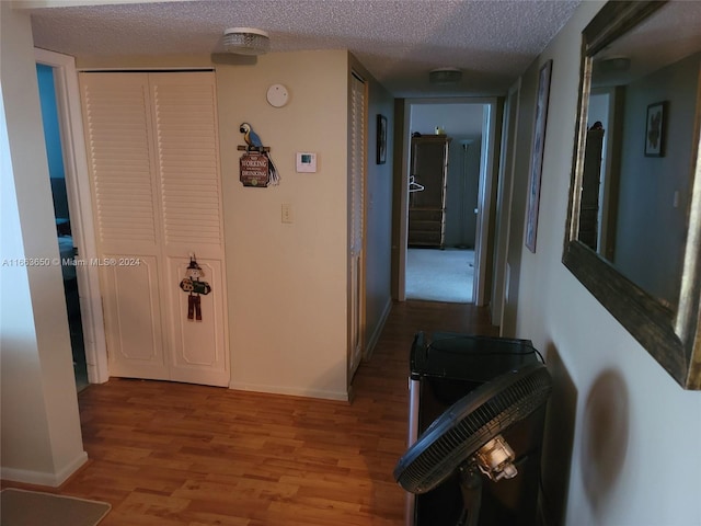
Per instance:
[[[214,72],[80,75],[111,376],[229,385]],[[191,255],[211,293],[180,288]]]

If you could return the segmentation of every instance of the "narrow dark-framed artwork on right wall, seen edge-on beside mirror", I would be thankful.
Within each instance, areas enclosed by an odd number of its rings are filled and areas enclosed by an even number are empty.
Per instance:
[[[548,60],[538,75],[538,96],[536,100],[536,121],[533,124],[533,144],[528,180],[528,204],[526,208],[526,247],[536,252],[538,233],[538,208],[540,205],[540,180],[543,168],[543,148],[545,145],[545,122],[548,121],[548,99],[550,98],[550,77],[552,60]]]

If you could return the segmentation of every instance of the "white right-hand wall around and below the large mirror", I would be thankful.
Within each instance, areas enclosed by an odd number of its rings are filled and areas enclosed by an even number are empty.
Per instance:
[[[517,323],[554,375],[545,492],[566,525],[699,525],[701,392],[682,390],[561,262],[581,32],[601,5],[583,2],[525,76],[537,82],[553,59],[538,250],[522,251]]]

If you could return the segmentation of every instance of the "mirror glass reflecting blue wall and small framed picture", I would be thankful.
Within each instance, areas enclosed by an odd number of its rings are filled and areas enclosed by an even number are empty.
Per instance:
[[[673,310],[694,170],[701,2],[670,2],[589,58],[577,239]]]

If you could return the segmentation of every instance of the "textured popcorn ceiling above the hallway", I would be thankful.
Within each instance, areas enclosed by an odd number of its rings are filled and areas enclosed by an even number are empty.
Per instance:
[[[59,3],[59,2],[58,2]],[[80,3],[80,2],[79,2]],[[395,96],[504,94],[579,0],[209,0],[32,9],[34,42],[76,57],[221,53],[265,30],[272,52],[349,49]],[[463,70],[456,87],[428,71]]]

